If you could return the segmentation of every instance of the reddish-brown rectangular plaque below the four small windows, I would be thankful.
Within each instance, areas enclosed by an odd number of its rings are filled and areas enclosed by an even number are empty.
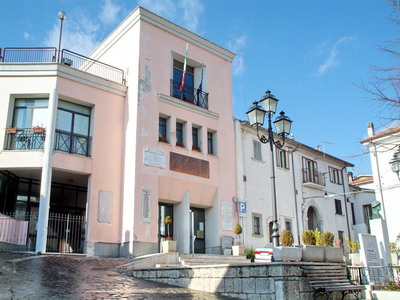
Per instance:
[[[169,168],[172,171],[210,178],[210,163],[206,160],[170,152]]]

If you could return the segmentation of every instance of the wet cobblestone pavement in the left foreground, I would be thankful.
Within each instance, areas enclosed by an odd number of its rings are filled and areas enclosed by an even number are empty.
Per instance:
[[[115,270],[128,261],[0,252],[0,299],[231,299]]]

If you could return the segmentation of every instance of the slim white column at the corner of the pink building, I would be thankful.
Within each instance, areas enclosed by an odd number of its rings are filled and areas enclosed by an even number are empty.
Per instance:
[[[51,175],[53,145],[56,127],[58,94],[57,89],[53,89],[49,95],[48,120],[46,129],[46,140],[43,151],[42,179],[40,182],[40,202],[39,216],[37,223],[36,253],[46,252],[47,226],[49,221]]]

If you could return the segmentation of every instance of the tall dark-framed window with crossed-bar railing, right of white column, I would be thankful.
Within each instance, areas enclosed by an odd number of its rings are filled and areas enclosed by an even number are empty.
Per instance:
[[[91,108],[58,101],[55,150],[90,156]]]

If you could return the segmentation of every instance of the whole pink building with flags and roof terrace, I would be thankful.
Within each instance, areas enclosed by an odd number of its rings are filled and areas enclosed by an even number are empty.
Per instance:
[[[122,70],[121,82],[64,56],[4,60],[0,122],[18,133],[0,133],[2,212],[38,213],[36,252],[56,243],[53,252],[136,256],[172,238],[179,252],[222,253],[238,222],[233,58],[138,7],[91,55]],[[71,226],[52,228],[54,213],[83,217],[80,251]]]

